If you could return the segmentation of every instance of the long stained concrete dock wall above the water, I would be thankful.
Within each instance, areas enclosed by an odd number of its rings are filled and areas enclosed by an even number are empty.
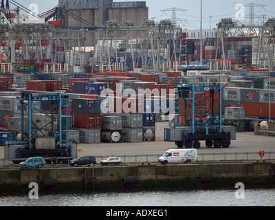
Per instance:
[[[0,193],[39,188],[51,190],[123,190],[124,188],[226,187],[236,182],[246,186],[272,186],[275,164],[171,164],[143,166],[92,166],[66,168],[21,168],[0,170]],[[232,185],[233,184],[233,185]]]

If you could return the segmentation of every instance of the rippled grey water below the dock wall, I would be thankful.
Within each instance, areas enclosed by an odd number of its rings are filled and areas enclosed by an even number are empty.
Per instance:
[[[0,206],[275,206],[275,189],[245,189],[244,199],[233,190],[175,190],[142,192],[2,195]]]

